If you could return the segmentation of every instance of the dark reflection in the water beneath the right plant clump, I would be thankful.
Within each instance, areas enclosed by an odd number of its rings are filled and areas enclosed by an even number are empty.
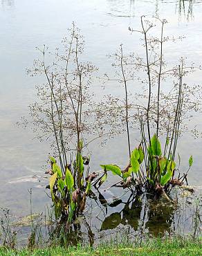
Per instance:
[[[153,201],[149,195],[131,196],[129,200],[120,202],[122,210],[113,212],[104,218],[100,231],[130,226],[132,230],[148,232],[149,235],[159,237],[172,232],[172,223],[176,205],[167,201]],[[110,207],[110,204],[109,204]]]

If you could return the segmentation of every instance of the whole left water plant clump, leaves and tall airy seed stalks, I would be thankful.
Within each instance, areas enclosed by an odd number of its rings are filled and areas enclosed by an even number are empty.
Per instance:
[[[62,46],[55,53],[46,46],[37,48],[42,57],[28,73],[43,76],[44,83],[37,86],[39,100],[30,105],[30,116],[37,138],[49,140],[55,156],[50,156],[50,170],[46,172],[50,174],[46,188],[50,189],[55,218],[71,223],[84,210],[97,176],[89,173],[90,158],[84,156],[84,150],[104,131],[95,122],[93,93],[89,93],[92,74],[98,68],[84,61],[84,39],[75,24]],[[29,121],[24,120],[24,124]]]

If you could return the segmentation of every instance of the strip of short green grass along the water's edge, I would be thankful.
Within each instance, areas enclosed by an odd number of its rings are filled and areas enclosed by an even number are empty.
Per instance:
[[[37,256],[57,256],[57,255],[185,255],[196,256],[202,255],[201,239],[197,240],[185,240],[185,239],[166,239],[165,241],[160,239],[152,239],[145,244],[127,244],[127,243],[109,243],[102,244],[97,248],[83,248],[82,246],[68,247],[68,248],[35,248],[33,250],[10,250],[6,248],[0,248],[0,255],[37,255]]]

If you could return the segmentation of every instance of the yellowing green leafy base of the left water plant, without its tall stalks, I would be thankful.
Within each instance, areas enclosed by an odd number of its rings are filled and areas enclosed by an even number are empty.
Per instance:
[[[50,157],[51,170],[46,173],[51,175],[48,188],[54,204],[55,218],[61,217],[62,221],[71,223],[78,214],[82,213],[86,203],[86,197],[91,193],[91,183],[96,178],[95,172],[84,176],[84,165],[89,166],[89,158],[76,158],[66,166],[62,172],[55,158]]]

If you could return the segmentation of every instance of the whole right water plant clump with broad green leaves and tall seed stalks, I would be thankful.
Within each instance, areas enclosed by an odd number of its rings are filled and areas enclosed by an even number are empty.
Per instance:
[[[193,66],[186,66],[183,59],[172,68],[167,68],[163,55],[165,42],[169,39],[163,35],[163,29],[167,21],[160,20],[160,38],[149,34],[154,24],[141,17],[141,30],[129,28],[131,33],[138,32],[143,35],[143,46],[145,48],[145,59],[135,53],[126,56],[123,54],[123,46],[113,57],[113,66],[118,74],[117,81],[125,89],[125,99],[117,100],[122,104],[122,120],[127,132],[127,143],[129,148],[129,163],[127,167],[120,168],[118,165],[100,165],[104,172],[111,171],[121,178],[119,183],[123,188],[134,188],[137,192],[149,192],[158,198],[167,194],[175,185],[183,185],[187,182],[187,173],[193,163],[192,156],[188,156],[188,170],[180,174],[180,155],[176,148],[178,138],[187,126],[184,120],[189,120],[192,111],[199,110],[199,102],[194,96],[200,94],[198,86],[187,86],[183,82],[184,77],[194,71]],[[134,75],[138,71],[146,74],[138,77],[138,82],[143,84],[143,93],[129,92],[129,88],[136,90]],[[142,74],[143,74],[142,73]],[[168,77],[175,80],[172,89],[163,88]],[[107,78],[106,78],[107,77]],[[107,81],[111,79],[105,75]],[[195,93],[195,95],[193,94]],[[131,98],[131,95],[134,95]],[[138,103],[136,103],[138,102]],[[145,104],[139,104],[144,102]],[[131,134],[133,125],[138,125],[140,130],[140,144],[131,151]],[[182,128],[183,127],[183,128]],[[153,134],[153,135],[152,135]],[[160,139],[161,137],[161,139]],[[165,140],[160,143],[160,140]],[[178,155],[178,166],[176,165],[176,154]]]

